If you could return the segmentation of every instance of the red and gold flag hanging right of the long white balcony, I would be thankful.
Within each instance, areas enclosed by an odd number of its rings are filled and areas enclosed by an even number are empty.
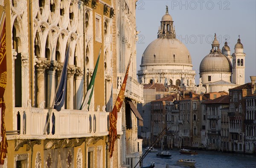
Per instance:
[[[110,152],[110,157],[113,155],[114,151],[114,143],[116,140],[117,136],[117,131],[116,131],[116,123],[117,123],[117,113],[120,111],[120,108],[122,107],[122,102],[125,97],[125,87],[126,87],[126,82],[128,78],[128,72],[129,72],[129,67],[131,63],[131,57],[127,65],[127,69],[125,72],[125,78],[122,83],[122,86],[120,88],[119,94],[116,99],[116,103],[114,105],[114,108],[112,112],[109,113],[109,122],[110,122],[110,127],[109,127],[109,152]]]

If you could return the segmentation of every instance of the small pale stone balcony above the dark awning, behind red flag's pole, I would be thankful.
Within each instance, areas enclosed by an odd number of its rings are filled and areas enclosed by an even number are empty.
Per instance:
[[[121,73],[117,74],[116,93],[119,93],[124,77],[125,77],[125,74],[121,74]],[[125,88],[125,96],[129,97],[131,100],[135,100],[138,103],[144,103],[143,85],[138,83],[137,78],[128,76],[126,88]]]

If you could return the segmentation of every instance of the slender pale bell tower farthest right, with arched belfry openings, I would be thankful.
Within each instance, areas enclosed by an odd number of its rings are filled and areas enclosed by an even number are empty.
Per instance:
[[[243,85],[245,82],[245,56],[244,53],[244,46],[241,43],[240,35],[237,43],[235,45],[235,52],[232,54],[232,68],[233,68],[233,75],[232,75],[232,83],[237,85]]]

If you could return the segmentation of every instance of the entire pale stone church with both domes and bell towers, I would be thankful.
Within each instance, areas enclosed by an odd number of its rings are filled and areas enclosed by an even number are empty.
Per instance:
[[[161,83],[166,88],[176,86],[183,91],[198,94],[227,91],[245,80],[245,56],[240,36],[235,52],[230,55],[230,47],[225,42],[222,50],[216,34],[210,53],[200,64],[200,81],[195,85],[195,71],[192,69],[191,55],[186,46],[176,39],[175,26],[166,6],[166,14],[160,21],[157,39],[145,49],[138,71],[141,84]]]

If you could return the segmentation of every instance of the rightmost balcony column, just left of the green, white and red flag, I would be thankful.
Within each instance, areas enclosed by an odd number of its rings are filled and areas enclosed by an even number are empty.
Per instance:
[[[76,80],[76,109],[79,109],[81,106],[81,102],[83,99],[83,83],[82,83],[82,79],[83,79],[83,75],[84,75],[84,69],[83,68],[76,68],[76,74],[75,74],[75,80]]]

